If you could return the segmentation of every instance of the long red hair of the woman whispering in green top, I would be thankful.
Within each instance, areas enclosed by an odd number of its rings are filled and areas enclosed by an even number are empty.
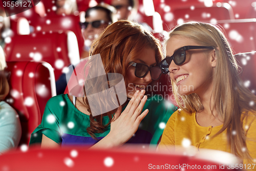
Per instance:
[[[145,30],[137,23],[118,21],[108,26],[105,31],[100,34],[98,39],[94,41],[90,56],[100,54],[105,72],[122,74],[127,87],[126,71],[130,66],[129,64],[142,55],[142,49],[144,48],[152,48],[155,50],[157,64],[162,60],[161,44],[151,32]],[[90,70],[89,74],[93,74],[93,72],[93,70]],[[95,89],[95,85],[91,85],[91,89],[93,88]],[[88,111],[92,113],[88,99],[85,97],[83,101],[88,107]],[[104,101],[104,99],[95,99],[96,103],[101,101]],[[111,123],[113,112],[107,112],[104,115],[108,116],[110,119],[110,122],[106,125],[102,124],[103,115],[95,117],[93,117],[92,114],[90,115],[91,123],[87,131],[91,137],[95,138],[94,133],[103,132]]]

